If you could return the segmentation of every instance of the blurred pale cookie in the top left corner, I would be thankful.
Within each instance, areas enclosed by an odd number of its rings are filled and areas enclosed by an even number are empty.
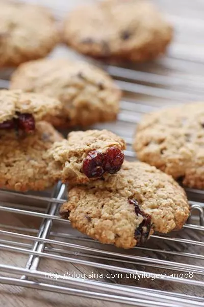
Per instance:
[[[47,9],[0,2],[0,67],[44,57],[56,45],[58,36]]]

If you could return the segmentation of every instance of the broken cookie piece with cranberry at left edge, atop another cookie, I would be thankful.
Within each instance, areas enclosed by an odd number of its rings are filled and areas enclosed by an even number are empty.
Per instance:
[[[35,130],[35,122],[47,115],[57,115],[62,104],[57,99],[21,91],[0,90],[0,130]]]

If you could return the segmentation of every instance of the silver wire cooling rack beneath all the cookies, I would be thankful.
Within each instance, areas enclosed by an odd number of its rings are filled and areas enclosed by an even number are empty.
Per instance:
[[[94,127],[122,136],[128,160],[136,159],[132,139],[142,114],[203,99],[204,53],[179,42],[181,32],[199,37],[204,23],[168,17],[176,28],[168,56],[125,68],[100,63],[124,95],[117,122]],[[8,86],[4,74],[0,87]],[[59,217],[66,199],[61,183],[43,193],[1,190],[0,282],[125,305],[204,305],[204,191],[186,191],[191,214],[183,230],[156,233],[145,247],[122,250],[95,242]]]

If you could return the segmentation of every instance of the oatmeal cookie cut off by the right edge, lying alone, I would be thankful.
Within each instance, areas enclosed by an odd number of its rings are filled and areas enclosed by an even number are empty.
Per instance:
[[[185,104],[145,115],[137,127],[134,148],[141,161],[204,188],[204,106]]]

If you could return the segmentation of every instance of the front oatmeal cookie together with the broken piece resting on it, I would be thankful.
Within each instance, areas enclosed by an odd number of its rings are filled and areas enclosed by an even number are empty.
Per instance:
[[[132,248],[154,231],[182,228],[189,205],[171,176],[124,161],[123,149],[125,142],[110,131],[87,130],[70,133],[47,155],[50,174],[69,183],[61,215],[101,243]]]

